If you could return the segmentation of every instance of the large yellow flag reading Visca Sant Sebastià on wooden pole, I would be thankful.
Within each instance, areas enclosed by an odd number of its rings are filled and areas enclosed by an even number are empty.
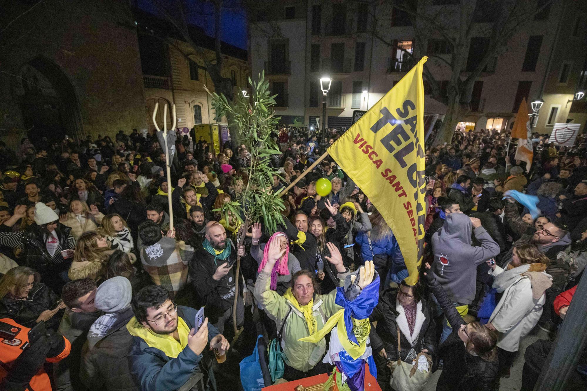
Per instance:
[[[416,284],[424,247],[423,57],[328,153],[392,229]],[[382,281],[385,276],[381,276]]]

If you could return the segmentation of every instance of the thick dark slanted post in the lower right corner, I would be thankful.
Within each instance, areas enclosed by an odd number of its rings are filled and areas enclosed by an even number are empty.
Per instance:
[[[577,286],[561,330],[540,371],[535,391],[566,390],[566,383],[587,346],[587,277],[585,273]]]

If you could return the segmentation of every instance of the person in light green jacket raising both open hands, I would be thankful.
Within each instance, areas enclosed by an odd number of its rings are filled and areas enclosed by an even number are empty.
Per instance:
[[[326,257],[335,265],[338,277],[344,281],[349,270],[342,262],[340,251],[332,243],[326,244],[331,257]],[[284,379],[291,381],[325,373],[329,368],[322,362],[326,352],[326,341],[318,343],[301,342],[300,338],[313,335],[322,329],[328,318],[340,307],[335,304],[336,290],[327,295],[319,293],[314,273],[301,270],[292,276],[292,286],[283,296],[271,290],[271,274],[275,263],[285,254],[279,241],[272,241],[267,251],[267,261],[255,282],[255,299],[262,309],[276,323],[283,327],[281,347],[285,354]]]

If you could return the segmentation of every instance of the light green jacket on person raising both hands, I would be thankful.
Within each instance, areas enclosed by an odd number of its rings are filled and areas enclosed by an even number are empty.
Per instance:
[[[348,272],[339,273],[341,286],[345,283],[345,277]],[[271,274],[261,271],[255,282],[255,299],[261,303],[263,309],[269,318],[275,321],[277,329],[289,314],[285,322],[284,331],[281,338],[281,348],[285,353],[285,363],[294,369],[307,372],[318,363],[326,351],[326,340],[322,339],[319,343],[301,342],[298,339],[309,336],[308,325],[303,318],[302,312],[298,311],[287,299],[275,291],[271,291]],[[342,307],[335,304],[336,289],[328,295],[314,295],[313,315],[316,318],[318,330],[321,330],[330,316],[339,311]]]

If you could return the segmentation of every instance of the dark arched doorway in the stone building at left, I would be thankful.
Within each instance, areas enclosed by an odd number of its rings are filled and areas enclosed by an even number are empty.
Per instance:
[[[35,58],[22,66],[19,76],[15,95],[33,144],[42,137],[48,141],[61,141],[66,135],[76,140],[85,137],[75,90],[58,65]]]

